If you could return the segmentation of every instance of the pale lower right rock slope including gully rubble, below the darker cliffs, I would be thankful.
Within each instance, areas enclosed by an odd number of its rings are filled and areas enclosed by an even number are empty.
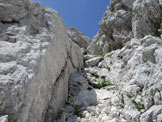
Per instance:
[[[94,59],[94,55],[84,57]],[[131,39],[100,63],[86,67],[90,86],[75,94],[74,114],[65,114],[67,122],[161,122],[161,59],[162,39],[148,35]],[[84,118],[75,113],[77,105]]]

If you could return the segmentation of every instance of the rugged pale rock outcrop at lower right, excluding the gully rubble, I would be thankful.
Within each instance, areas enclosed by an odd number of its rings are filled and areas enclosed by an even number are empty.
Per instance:
[[[109,67],[105,77],[123,95],[122,114],[129,121],[156,120],[161,113],[161,48],[162,39],[145,36],[104,57],[103,64]]]

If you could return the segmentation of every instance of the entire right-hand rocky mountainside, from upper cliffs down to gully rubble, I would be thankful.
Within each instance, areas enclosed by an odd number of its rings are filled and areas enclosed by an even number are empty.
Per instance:
[[[70,93],[67,122],[162,121],[161,23],[161,0],[111,0],[88,47],[96,55],[84,55],[90,86],[69,87],[80,92]]]

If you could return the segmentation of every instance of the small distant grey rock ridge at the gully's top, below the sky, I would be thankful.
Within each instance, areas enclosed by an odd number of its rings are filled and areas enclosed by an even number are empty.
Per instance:
[[[79,32],[76,28],[71,27],[68,29],[68,35],[73,42],[78,44],[81,48],[87,48],[91,39],[88,38],[85,34]]]

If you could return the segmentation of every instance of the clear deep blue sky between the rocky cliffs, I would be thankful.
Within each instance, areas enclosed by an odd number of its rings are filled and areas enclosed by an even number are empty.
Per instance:
[[[59,12],[66,27],[76,27],[90,38],[96,35],[109,0],[32,0]]]

